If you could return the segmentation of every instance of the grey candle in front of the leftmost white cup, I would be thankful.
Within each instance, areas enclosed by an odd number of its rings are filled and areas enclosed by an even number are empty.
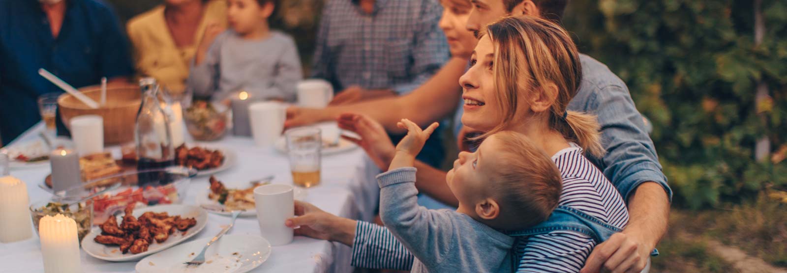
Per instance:
[[[50,154],[50,164],[54,192],[65,191],[82,184],[82,173],[79,172],[79,155],[76,155],[76,152],[56,149]]]

